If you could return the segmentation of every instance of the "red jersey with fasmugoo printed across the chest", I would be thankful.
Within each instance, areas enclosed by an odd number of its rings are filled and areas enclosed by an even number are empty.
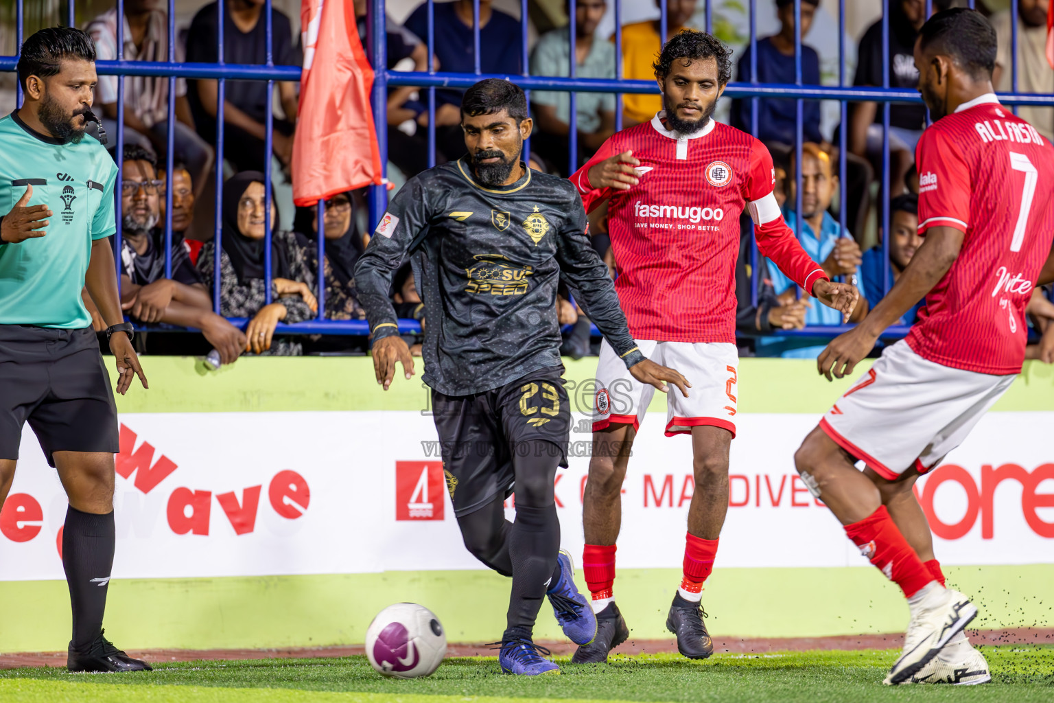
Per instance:
[[[666,130],[662,116],[611,135],[570,180],[586,212],[608,199],[614,289],[635,338],[735,343],[744,207],[763,256],[806,291],[827,276],[783,221],[764,144],[713,119],[684,136]],[[627,151],[640,161],[640,182],[593,190],[589,169]]]

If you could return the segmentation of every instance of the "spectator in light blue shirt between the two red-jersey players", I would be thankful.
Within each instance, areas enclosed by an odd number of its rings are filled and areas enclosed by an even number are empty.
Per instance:
[[[827,208],[838,185],[838,176],[833,173],[831,157],[819,144],[802,144],[801,164],[801,221],[793,208],[795,203],[795,180],[787,178],[789,191],[783,217],[787,226],[798,234],[802,249],[814,261],[822,261],[824,272],[834,279],[846,276],[846,280],[860,289],[860,300],[853,311],[850,321],[859,321],[867,314],[866,295],[870,281],[865,281],[860,271],[860,247],[847,230],[831,216]],[[793,162],[792,162],[793,163]],[[794,173],[792,165],[790,173]],[[784,275],[770,260],[766,261],[773,290],[781,304],[793,304],[798,297],[794,281]],[[821,305],[804,304],[805,325],[841,325],[842,314]],[[833,314],[827,311],[832,311]],[[762,337],[757,341],[759,356],[782,356],[784,358],[816,358],[825,347],[817,346],[816,339],[804,337]]]

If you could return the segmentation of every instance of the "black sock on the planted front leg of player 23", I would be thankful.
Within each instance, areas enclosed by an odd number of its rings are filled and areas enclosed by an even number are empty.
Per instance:
[[[512,593],[509,598],[508,628],[503,641],[529,639],[542,607],[548,581],[555,572],[560,551],[560,520],[557,506],[545,508],[518,505],[516,520],[509,533],[512,560]]]

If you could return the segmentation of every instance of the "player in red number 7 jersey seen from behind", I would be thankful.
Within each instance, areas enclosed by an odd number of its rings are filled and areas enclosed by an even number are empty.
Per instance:
[[[974,11],[939,13],[920,31],[919,91],[936,120],[916,149],[925,242],[863,323],[823,351],[820,372],[852,373],[882,330],[922,296],[926,307],[795,455],[814,494],[907,598],[891,684],[991,679],[962,636],[977,608],[944,588],[912,486],[1010,387],[1032,289],[1054,280],[1054,148],[999,104],[995,56],[996,34]]]

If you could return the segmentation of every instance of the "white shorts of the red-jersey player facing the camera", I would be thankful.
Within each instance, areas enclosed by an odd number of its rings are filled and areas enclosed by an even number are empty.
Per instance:
[[[736,345],[721,341],[653,341],[638,339],[641,353],[656,364],[681,373],[691,388],[688,397],[667,383],[666,436],[691,432],[698,425],[723,427],[736,436],[736,373],[739,352]],[[593,432],[608,425],[632,424],[638,429],[651,404],[655,386],[633,378],[625,363],[605,339],[597,365],[597,395],[593,399]]]

